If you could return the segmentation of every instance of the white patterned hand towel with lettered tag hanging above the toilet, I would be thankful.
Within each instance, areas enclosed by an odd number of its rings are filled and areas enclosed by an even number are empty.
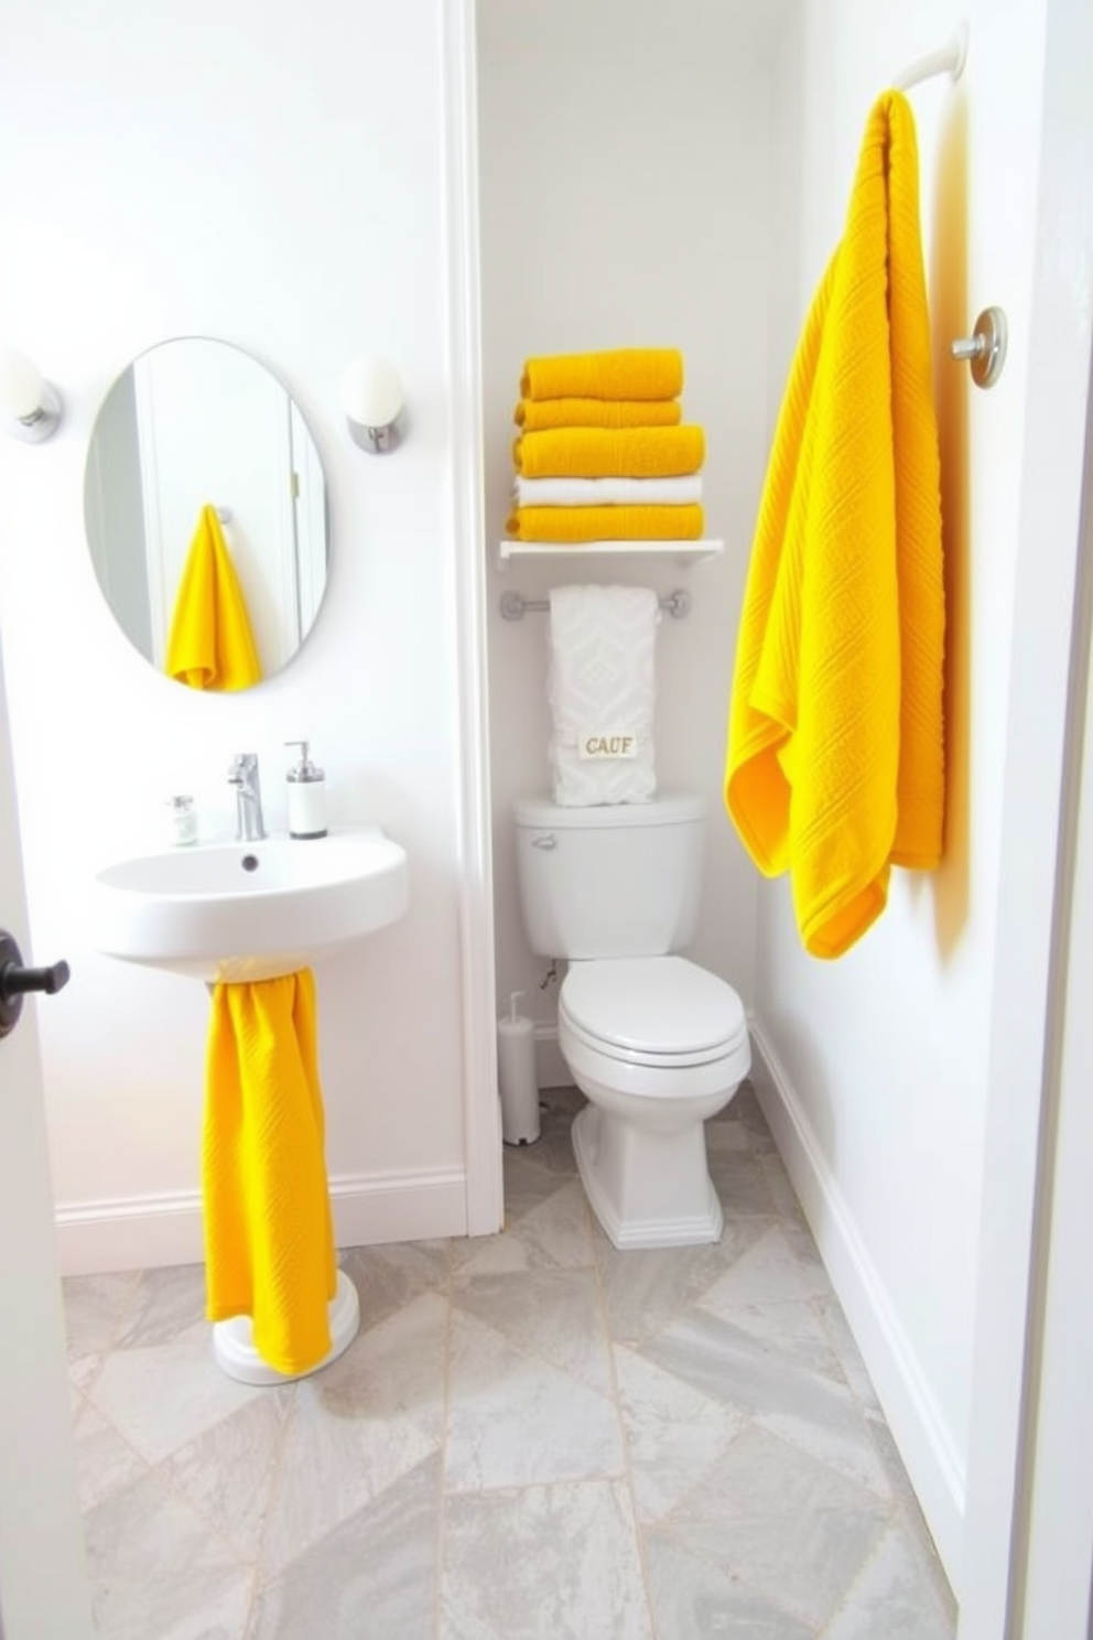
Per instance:
[[[554,802],[647,802],[657,789],[657,594],[649,587],[554,587],[549,700]]]

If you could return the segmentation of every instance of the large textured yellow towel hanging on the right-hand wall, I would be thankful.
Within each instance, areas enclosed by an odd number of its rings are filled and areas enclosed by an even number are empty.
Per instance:
[[[798,343],[759,508],[726,804],[788,869],[801,940],[846,951],[891,864],[942,854],[944,582],[914,123],[873,107]]]

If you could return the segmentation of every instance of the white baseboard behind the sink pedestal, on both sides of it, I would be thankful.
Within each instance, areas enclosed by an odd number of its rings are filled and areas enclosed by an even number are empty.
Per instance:
[[[339,1246],[467,1235],[462,1168],[331,1179],[331,1204]],[[69,1202],[57,1207],[56,1227],[62,1276],[205,1260],[198,1191]]]

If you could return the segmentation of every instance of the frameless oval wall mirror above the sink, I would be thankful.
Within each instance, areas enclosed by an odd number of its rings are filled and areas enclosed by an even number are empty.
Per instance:
[[[118,625],[182,682],[272,677],[315,623],[329,559],[323,467],[300,408],[241,348],[182,336],[121,372],[92,430],[84,520]],[[224,577],[233,625],[213,633]],[[257,666],[233,679],[224,648],[241,628]],[[203,671],[192,654],[193,669],[179,671],[180,630],[211,654]]]

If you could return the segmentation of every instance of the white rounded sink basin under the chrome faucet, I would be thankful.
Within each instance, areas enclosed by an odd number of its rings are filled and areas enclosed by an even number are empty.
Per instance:
[[[397,922],[406,902],[406,854],[379,827],[208,843],[98,871],[90,938],[108,956],[210,984],[274,979]]]

